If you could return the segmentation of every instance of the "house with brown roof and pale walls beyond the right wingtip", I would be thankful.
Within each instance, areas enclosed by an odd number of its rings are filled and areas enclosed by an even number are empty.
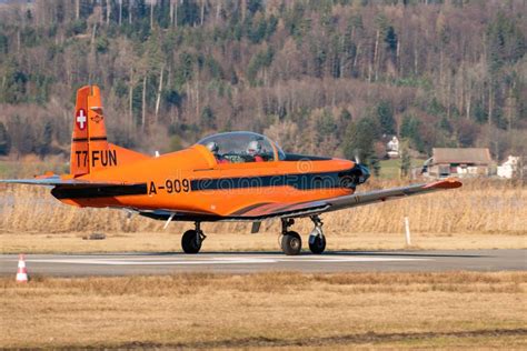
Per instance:
[[[488,177],[493,166],[488,149],[434,148],[432,157],[425,161],[422,173],[431,178]]]

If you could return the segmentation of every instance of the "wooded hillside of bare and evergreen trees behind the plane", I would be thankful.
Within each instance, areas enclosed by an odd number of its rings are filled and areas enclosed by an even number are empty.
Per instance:
[[[287,151],[527,156],[524,0],[0,2],[0,156],[68,156],[74,93],[147,153],[251,130]]]

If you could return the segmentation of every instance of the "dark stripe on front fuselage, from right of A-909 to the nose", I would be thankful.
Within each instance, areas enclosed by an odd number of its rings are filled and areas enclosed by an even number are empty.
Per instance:
[[[292,187],[299,190],[342,188],[347,171],[324,173],[275,174],[239,178],[195,179],[192,191],[232,190],[247,188]]]

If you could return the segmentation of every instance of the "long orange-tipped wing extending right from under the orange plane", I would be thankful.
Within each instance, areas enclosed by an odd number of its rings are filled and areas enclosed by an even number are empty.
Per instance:
[[[374,190],[370,192],[356,193],[351,195],[331,198],[320,201],[301,203],[260,203],[241,209],[228,217],[230,220],[265,220],[269,218],[306,217],[322,212],[337,211],[358,205],[401,199],[416,194],[434,192],[438,190],[455,189],[461,187],[461,182],[447,179],[425,184]]]

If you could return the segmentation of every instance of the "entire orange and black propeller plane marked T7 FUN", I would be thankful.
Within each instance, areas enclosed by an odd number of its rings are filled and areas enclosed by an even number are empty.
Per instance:
[[[51,194],[77,207],[127,209],[148,218],[190,221],[181,238],[186,253],[197,253],[206,239],[201,222],[281,220],[281,249],[298,254],[302,243],[291,230],[309,217],[309,249],[321,253],[326,237],[319,215],[357,205],[461,187],[456,180],[355,193],[369,177],[357,162],[284,152],[265,136],[227,132],[195,146],[149,157],[109,143],[100,90],[77,92],[70,174],[3,180],[52,187]]]

